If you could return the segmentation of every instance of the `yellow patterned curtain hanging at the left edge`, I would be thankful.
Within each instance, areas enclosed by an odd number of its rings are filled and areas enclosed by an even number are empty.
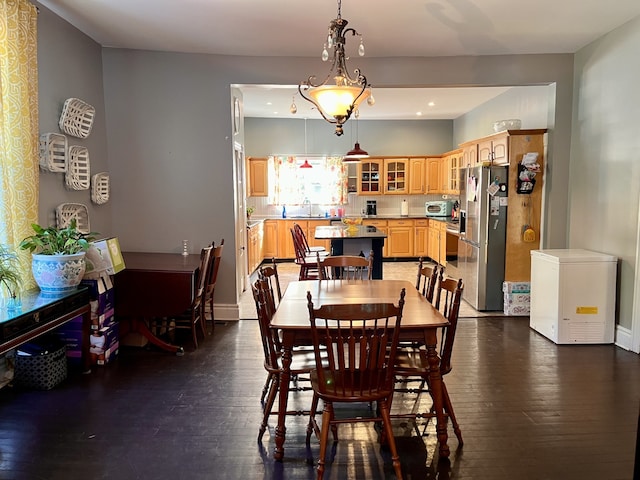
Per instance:
[[[27,0],[0,0],[0,244],[19,254],[23,288],[35,286],[17,247],[38,221],[37,16]]]

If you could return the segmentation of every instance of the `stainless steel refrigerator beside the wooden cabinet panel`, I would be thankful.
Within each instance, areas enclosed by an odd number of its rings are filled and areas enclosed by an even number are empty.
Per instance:
[[[458,270],[462,298],[476,310],[502,310],[507,225],[507,167],[460,171]]]

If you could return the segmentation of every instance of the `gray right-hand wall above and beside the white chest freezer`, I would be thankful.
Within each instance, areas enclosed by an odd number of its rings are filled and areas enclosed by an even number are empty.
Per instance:
[[[569,244],[619,257],[619,323],[631,328],[640,199],[640,18],[575,57]]]

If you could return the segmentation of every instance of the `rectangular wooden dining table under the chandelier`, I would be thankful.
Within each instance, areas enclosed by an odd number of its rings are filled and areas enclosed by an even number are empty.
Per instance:
[[[429,381],[436,415],[436,434],[440,457],[449,456],[447,445],[447,418],[443,408],[442,375],[438,355],[438,330],[449,322],[411,282],[406,280],[305,280],[290,282],[271,319],[271,328],[281,337],[282,373],[278,396],[278,424],[275,429],[274,458],[284,458],[286,439],[285,418],[291,380],[291,361],[294,346],[311,346],[311,324],[307,292],[314,308],[332,304],[398,304],[400,292],[405,289],[405,303],[400,324],[400,340],[419,342],[427,350]]]

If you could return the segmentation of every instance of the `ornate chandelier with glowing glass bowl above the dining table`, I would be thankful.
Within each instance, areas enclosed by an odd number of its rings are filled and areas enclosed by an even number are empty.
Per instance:
[[[327,43],[322,50],[322,61],[326,62],[329,60],[327,48],[333,49],[331,70],[324,81],[320,83],[316,83],[316,77],[312,75],[298,85],[298,92],[302,98],[315,105],[327,122],[336,125],[335,133],[338,136],[344,133],[342,125],[349,120],[351,114],[357,110],[363,100],[368,99],[368,103],[373,105],[371,85],[367,83],[367,77],[358,68],[354,70],[353,77],[349,75],[347,70],[348,57],[345,57],[344,53],[345,36],[350,33],[360,37],[358,54],[361,57],[364,56],[364,44],[361,34],[353,28],[346,28],[349,22],[342,18],[341,9],[342,0],[338,0],[338,16],[329,23]],[[335,85],[328,84],[331,78],[335,81]]]

